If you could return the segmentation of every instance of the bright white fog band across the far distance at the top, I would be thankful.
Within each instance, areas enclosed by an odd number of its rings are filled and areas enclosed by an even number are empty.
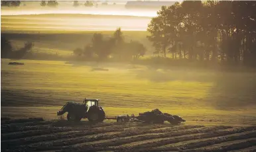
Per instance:
[[[125,2],[109,2],[109,5],[98,7],[85,7],[80,1],[79,7],[73,7],[72,2],[59,2],[58,7],[41,7],[40,1],[28,2],[22,1],[21,6],[17,8],[1,7],[1,15],[38,15],[38,14],[84,14],[84,15],[130,15],[137,17],[155,17],[157,9],[125,9]]]

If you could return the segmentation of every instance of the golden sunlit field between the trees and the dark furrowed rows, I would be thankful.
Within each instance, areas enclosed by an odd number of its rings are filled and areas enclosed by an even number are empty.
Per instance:
[[[56,119],[69,100],[99,98],[107,115],[159,108],[186,124],[251,125],[255,73],[153,69],[141,65],[1,59],[1,117]],[[103,67],[109,71],[92,71]]]

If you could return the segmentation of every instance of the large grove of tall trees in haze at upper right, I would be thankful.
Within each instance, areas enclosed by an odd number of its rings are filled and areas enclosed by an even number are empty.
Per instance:
[[[183,1],[163,6],[148,25],[155,54],[256,65],[256,1]]]

